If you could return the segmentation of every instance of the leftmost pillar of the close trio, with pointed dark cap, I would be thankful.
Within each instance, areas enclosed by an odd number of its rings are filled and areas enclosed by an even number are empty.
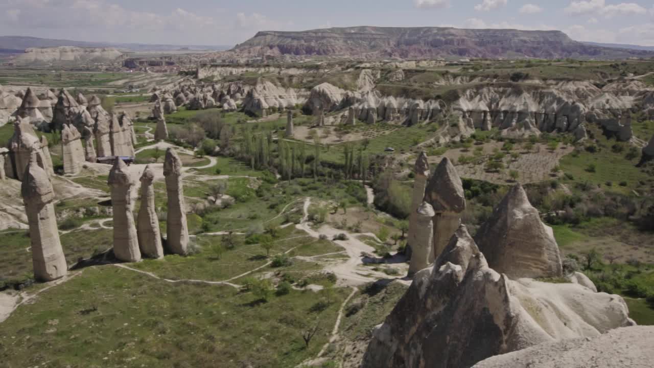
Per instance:
[[[114,221],[114,255],[124,262],[141,261],[141,251],[134,225],[133,206],[130,191],[134,181],[129,175],[127,165],[116,158],[107,181],[111,188],[111,205]]]

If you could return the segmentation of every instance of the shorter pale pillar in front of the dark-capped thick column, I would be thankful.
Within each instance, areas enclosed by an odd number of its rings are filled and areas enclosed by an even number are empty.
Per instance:
[[[427,202],[422,204],[415,211],[415,235],[413,246],[411,246],[411,263],[409,264],[409,276],[413,276],[419,270],[429,267],[432,254],[432,239],[434,238],[434,208]],[[413,213],[411,213],[413,215]]]

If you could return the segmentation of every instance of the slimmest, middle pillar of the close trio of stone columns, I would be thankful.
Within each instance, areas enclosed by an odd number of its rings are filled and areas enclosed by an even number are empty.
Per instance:
[[[154,172],[146,166],[141,175],[141,208],[139,208],[137,235],[141,253],[145,257],[163,257],[159,218],[154,206]]]

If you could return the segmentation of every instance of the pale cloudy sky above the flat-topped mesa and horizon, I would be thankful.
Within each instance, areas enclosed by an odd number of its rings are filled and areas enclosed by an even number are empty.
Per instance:
[[[235,45],[257,31],[347,26],[558,29],[654,46],[654,1],[0,0],[0,35],[75,41]]]

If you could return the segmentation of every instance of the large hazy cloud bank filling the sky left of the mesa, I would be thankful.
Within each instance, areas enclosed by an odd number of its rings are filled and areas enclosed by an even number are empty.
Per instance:
[[[262,29],[289,29],[258,13],[193,12],[180,7],[139,11],[115,0],[0,0],[0,33],[79,41],[227,44]]]

